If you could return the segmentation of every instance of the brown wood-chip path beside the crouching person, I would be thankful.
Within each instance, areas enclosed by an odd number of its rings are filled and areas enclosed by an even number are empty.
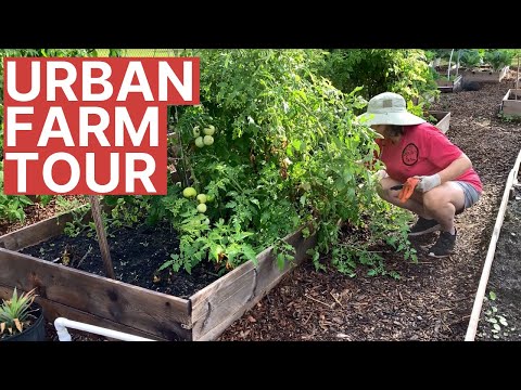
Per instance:
[[[484,185],[480,202],[456,217],[453,256],[433,259],[420,250],[414,264],[389,253],[386,264],[401,281],[363,270],[350,278],[306,262],[219,340],[463,340],[506,180],[521,148],[521,125],[496,115],[514,77],[510,70],[500,83],[443,93],[431,107],[450,112],[447,135],[470,157]],[[507,229],[517,234],[513,225]],[[436,234],[415,245],[421,249]],[[512,251],[513,259],[519,257]],[[497,300],[505,298],[498,292]]]

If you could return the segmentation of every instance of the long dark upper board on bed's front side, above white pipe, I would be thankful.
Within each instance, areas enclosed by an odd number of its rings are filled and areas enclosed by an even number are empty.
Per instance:
[[[190,338],[190,301],[0,248],[0,284],[165,339]]]

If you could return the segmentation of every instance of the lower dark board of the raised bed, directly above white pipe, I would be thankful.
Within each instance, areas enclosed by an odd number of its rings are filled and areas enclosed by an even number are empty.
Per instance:
[[[9,297],[11,297],[12,291],[13,291],[12,287],[0,285],[0,299],[8,299]],[[158,341],[165,340],[155,335],[141,332],[140,329],[125,326],[125,325],[102,318],[100,316],[96,316],[96,315],[76,310],[74,308],[69,308],[65,304],[51,301],[49,299],[37,297],[36,301],[41,304],[41,307],[43,308],[43,314],[46,316],[46,320],[51,323],[54,322],[54,320],[56,320],[58,317],[65,317],[67,320],[78,321],[89,325],[101,326],[112,330],[125,332],[130,335],[145,337],[153,340],[158,340]]]

